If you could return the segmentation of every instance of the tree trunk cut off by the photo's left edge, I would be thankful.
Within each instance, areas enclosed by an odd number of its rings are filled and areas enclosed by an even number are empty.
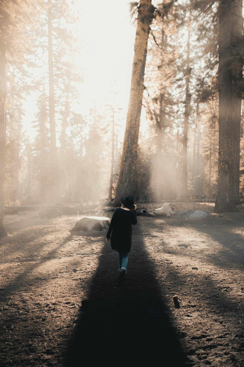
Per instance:
[[[5,139],[6,139],[6,119],[5,101],[6,91],[6,46],[0,42],[0,237],[7,236],[3,228],[3,208],[4,208],[4,166],[5,166]]]

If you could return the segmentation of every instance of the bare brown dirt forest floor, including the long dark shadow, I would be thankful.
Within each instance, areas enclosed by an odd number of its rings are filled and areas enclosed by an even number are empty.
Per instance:
[[[0,366],[244,366],[244,206],[221,217],[211,203],[173,206],[212,214],[138,216],[122,284],[106,230],[70,234],[78,216],[6,215]]]

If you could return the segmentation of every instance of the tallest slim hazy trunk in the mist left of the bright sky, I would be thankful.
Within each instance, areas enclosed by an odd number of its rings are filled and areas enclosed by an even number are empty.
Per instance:
[[[52,47],[52,2],[48,1],[48,68],[49,68],[49,123],[50,123],[50,156],[52,173],[52,199],[57,199],[57,147],[56,147],[56,124],[54,103],[54,81],[53,81],[53,47]]]

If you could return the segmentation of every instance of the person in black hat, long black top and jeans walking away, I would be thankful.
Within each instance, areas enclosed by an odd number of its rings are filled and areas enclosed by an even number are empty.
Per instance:
[[[111,247],[118,251],[119,281],[127,273],[129,251],[131,250],[132,224],[137,223],[136,204],[132,196],[121,197],[121,207],[116,208],[111,219],[106,241],[111,236]]]

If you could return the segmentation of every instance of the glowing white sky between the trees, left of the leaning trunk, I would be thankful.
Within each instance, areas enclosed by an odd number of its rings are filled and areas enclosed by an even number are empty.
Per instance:
[[[115,89],[119,92],[115,97],[115,106],[121,109],[120,124],[123,124],[121,129],[123,134],[136,30],[130,22],[129,5],[127,0],[106,0],[106,2],[94,0],[92,3],[79,0],[74,6],[80,17],[78,38],[85,47],[79,61],[84,77],[84,82],[80,86],[80,103],[72,107],[76,112],[87,116],[94,101],[98,110],[104,105],[112,104],[112,91]],[[27,129],[30,138],[36,134],[31,125],[36,112],[33,98],[30,97],[25,105],[24,129]],[[119,113],[116,116],[119,117]]]

